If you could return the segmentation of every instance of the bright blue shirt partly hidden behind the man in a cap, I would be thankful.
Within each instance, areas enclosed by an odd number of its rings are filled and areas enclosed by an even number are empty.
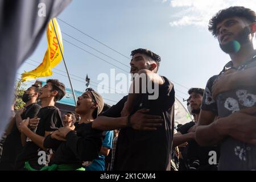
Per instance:
[[[114,136],[113,131],[106,131],[106,136],[102,142],[102,146],[111,149],[113,136]],[[86,171],[105,171],[105,155],[98,155],[98,158],[94,159],[92,164],[90,164],[90,166],[85,167],[85,170]]]

